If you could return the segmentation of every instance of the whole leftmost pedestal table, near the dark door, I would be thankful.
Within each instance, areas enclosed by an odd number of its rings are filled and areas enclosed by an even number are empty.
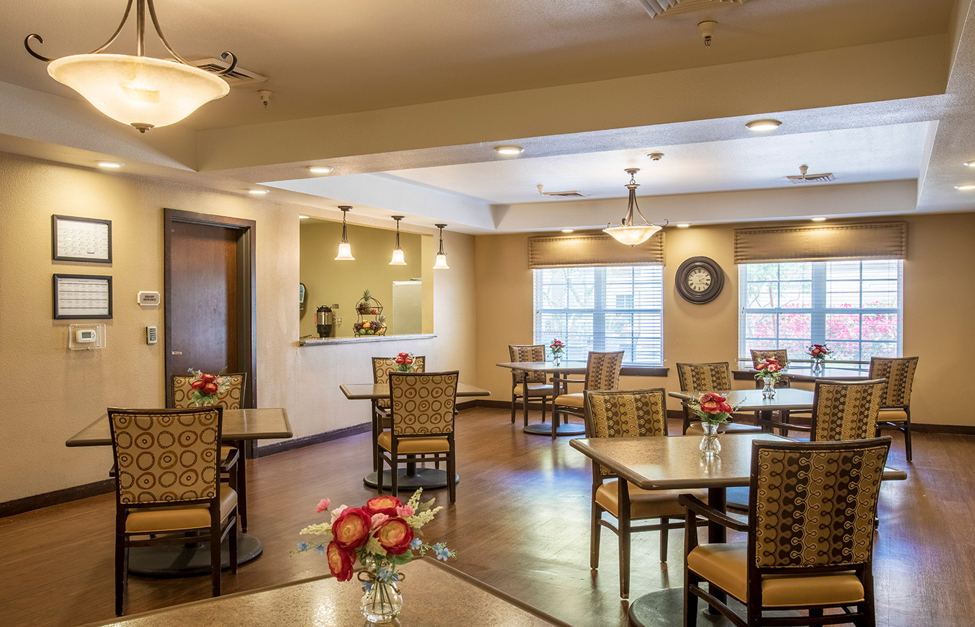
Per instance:
[[[284,408],[257,408],[223,410],[220,443],[244,451],[246,443],[255,440],[280,440],[291,438],[292,425]],[[110,447],[111,426],[108,414],[103,413],[91,424],[74,434],[64,443],[66,447]],[[237,490],[241,500],[247,496],[247,463],[242,455],[238,461],[241,474]],[[222,566],[230,566],[229,552],[224,541]],[[243,528],[237,533],[237,562],[245,564],[254,560],[264,550],[256,536]],[[129,571],[147,577],[174,577],[203,574],[211,571],[210,543],[160,544],[136,546],[129,550]]]

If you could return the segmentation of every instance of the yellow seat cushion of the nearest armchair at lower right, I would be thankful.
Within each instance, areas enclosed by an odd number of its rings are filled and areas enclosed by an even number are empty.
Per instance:
[[[687,555],[690,568],[745,603],[748,596],[747,542],[703,544]],[[824,574],[766,574],[762,607],[832,606],[863,601],[863,584],[852,571]]]

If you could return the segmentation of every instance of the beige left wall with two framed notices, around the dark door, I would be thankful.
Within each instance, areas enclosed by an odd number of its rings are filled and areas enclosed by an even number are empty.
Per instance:
[[[436,339],[302,348],[294,306],[300,206],[6,153],[0,188],[0,502],[105,479],[107,448],[67,449],[64,441],[108,406],[164,404],[165,345],[144,339],[146,325],[162,332],[163,310],[136,304],[140,290],[163,291],[164,207],[256,220],[258,404],[286,408],[296,437],[368,420],[368,403],[346,401],[338,383],[370,380],[373,352],[423,349],[436,368],[473,377],[471,330],[455,318],[474,315],[473,237],[447,236],[451,269],[433,291],[434,307],[445,309],[434,317],[446,322]],[[52,261],[52,214],[111,219],[113,263]],[[67,349],[71,321],[51,317],[56,272],[113,277],[104,349]]]

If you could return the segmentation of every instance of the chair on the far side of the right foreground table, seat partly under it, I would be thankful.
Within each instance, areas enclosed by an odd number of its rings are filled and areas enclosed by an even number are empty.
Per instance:
[[[667,391],[663,388],[597,392],[587,390],[585,420],[587,438],[667,437]],[[652,462],[652,460],[647,460]],[[619,541],[619,596],[630,596],[630,534],[660,531],[660,561],[667,561],[667,532],[683,528],[684,492],[704,496],[704,490],[643,490],[619,479],[593,461],[592,525],[589,535],[589,568],[600,568],[601,528]],[[604,520],[604,513],[616,525]],[[674,523],[670,519],[678,519]],[[634,521],[659,520],[634,527]]]

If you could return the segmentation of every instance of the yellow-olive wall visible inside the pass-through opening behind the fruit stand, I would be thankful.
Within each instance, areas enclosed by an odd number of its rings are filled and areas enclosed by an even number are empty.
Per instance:
[[[319,305],[338,303],[335,315],[342,324],[332,331],[334,337],[352,337],[352,323],[358,320],[356,302],[367,289],[383,304],[387,334],[397,330],[393,311],[393,281],[411,278],[430,279],[433,270],[422,262],[421,237],[429,235],[401,233],[400,247],[407,265],[389,265],[396,246],[396,231],[370,226],[349,225],[349,243],[355,261],[336,261],[338,242],[342,239],[341,222],[301,220],[301,282],[308,289],[308,305],[300,314],[300,333],[318,336],[315,309]],[[367,318],[374,320],[374,318]],[[430,328],[432,329],[432,328]]]

